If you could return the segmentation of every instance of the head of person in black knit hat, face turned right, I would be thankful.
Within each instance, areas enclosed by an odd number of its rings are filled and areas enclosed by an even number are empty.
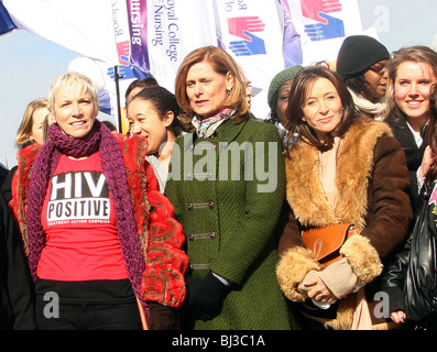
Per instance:
[[[337,73],[348,86],[357,108],[374,119],[381,119],[386,108],[389,57],[386,47],[368,35],[348,36],[337,57]]]

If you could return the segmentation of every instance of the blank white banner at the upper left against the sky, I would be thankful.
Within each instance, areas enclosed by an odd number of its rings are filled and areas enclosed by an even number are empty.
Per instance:
[[[73,52],[118,64],[112,1],[3,0],[12,21]]]

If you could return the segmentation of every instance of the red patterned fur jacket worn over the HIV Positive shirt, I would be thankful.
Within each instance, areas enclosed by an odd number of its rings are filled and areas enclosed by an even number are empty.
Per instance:
[[[185,241],[182,224],[175,220],[174,208],[160,193],[152,165],[145,161],[148,143],[141,136],[114,134],[123,154],[127,179],[131,190],[139,239],[143,249],[145,270],[141,294],[145,301],[156,301],[181,308],[185,296],[184,273],[188,258],[182,246]],[[26,205],[32,164],[40,145],[18,153],[18,168],[12,180],[10,207],[20,226],[24,251],[28,254]]]

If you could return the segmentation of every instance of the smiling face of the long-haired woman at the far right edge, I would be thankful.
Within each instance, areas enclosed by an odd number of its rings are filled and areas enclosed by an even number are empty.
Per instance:
[[[429,118],[429,92],[437,81],[431,67],[425,63],[402,63],[393,85],[397,107],[406,114],[411,124],[425,123]],[[414,121],[415,120],[415,121]]]

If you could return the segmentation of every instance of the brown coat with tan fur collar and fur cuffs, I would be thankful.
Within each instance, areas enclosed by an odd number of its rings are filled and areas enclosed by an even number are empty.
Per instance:
[[[321,270],[302,243],[303,228],[354,223],[361,234],[348,239],[340,253],[359,283],[368,284],[381,274],[382,260],[405,238],[412,219],[405,155],[384,122],[359,120],[343,136],[337,154],[335,209],[327,200],[319,163],[317,148],[304,142],[286,157],[286,197],[292,215],[280,241],[276,274],[285,296],[293,301],[306,298],[297,290],[305,275]],[[326,324],[349,329],[354,300],[354,295],[341,299],[337,319]]]

